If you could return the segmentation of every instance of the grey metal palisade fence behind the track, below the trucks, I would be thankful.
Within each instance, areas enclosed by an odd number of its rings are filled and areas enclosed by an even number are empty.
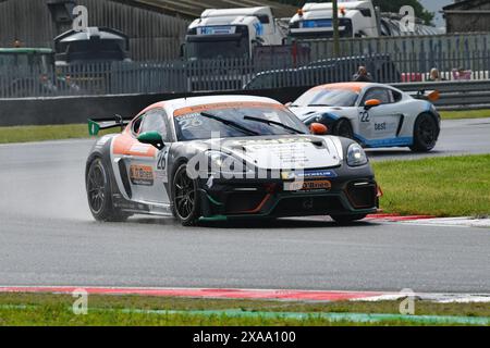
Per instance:
[[[438,89],[441,108],[490,104],[490,51],[473,52],[469,61],[471,80],[425,82],[428,78],[430,55],[400,57],[373,54],[320,60],[299,66],[275,62],[257,64],[248,59],[220,61],[118,62],[70,65],[57,71],[41,71],[33,66],[9,69],[0,66],[0,98],[142,95],[193,91],[236,91],[246,89],[281,89],[313,87],[345,82],[358,65],[366,65],[375,80],[394,84],[404,90]],[[417,60],[418,59],[418,60]],[[419,65],[424,63],[425,69]],[[454,78],[452,66],[457,59],[437,62],[442,76]],[[274,65],[275,64],[275,65]],[[418,64],[418,65],[417,65]],[[475,79],[479,78],[479,79]],[[402,80],[412,83],[401,83]],[[416,80],[416,82],[414,82]]]

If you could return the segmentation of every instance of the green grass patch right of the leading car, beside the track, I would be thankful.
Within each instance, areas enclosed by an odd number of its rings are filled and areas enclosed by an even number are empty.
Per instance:
[[[490,214],[490,154],[372,163],[384,212]]]

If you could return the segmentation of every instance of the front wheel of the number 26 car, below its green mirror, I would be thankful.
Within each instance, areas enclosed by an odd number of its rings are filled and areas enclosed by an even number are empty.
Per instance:
[[[172,178],[172,212],[183,226],[196,225],[201,215],[198,184],[181,164]]]

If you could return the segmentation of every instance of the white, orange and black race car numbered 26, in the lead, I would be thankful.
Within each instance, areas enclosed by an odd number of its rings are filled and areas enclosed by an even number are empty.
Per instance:
[[[121,126],[95,144],[86,164],[90,211],[99,221],[173,215],[182,224],[245,217],[377,211],[378,186],[362,147],[305,126],[278,101],[249,96],[174,99],[131,121],[89,120],[89,130]]]

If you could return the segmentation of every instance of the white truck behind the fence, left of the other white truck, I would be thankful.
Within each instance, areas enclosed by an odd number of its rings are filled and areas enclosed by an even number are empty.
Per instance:
[[[269,7],[208,9],[188,26],[182,53],[191,61],[252,59],[256,47],[283,45],[286,35]]]

